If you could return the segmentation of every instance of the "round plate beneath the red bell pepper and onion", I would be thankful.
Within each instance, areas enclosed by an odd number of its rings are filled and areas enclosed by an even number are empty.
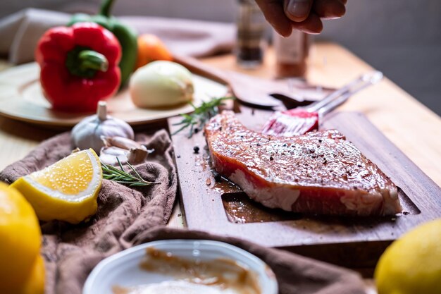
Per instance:
[[[39,66],[27,63],[15,66],[0,73],[0,115],[18,121],[38,125],[70,127],[90,114],[68,114],[53,111],[43,96],[39,84]],[[194,104],[211,97],[221,97],[227,93],[227,87],[200,75],[193,75]],[[189,113],[192,106],[180,105],[170,109],[139,109],[132,103],[128,90],[122,90],[115,97],[107,100],[109,114],[130,123],[141,125],[161,121],[170,116]]]

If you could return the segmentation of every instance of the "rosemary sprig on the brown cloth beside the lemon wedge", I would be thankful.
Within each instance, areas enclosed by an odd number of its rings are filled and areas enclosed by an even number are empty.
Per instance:
[[[135,173],[135,176],[132,176],[130,173],[124,171],[123,164],[121,164],[120,159],[116,157],[120,169],[117,169],[115,166],[110,166],[107,164],[101,163],[101,169],[103,170],[103,178],[106,180],[113,180],[116,183],[128,185],[129,187],[142,187],[147,185],[154,185],[159,183],[149,182],[144,180],[136,169],[132,166],[132,164],[127,163],[127,165],[132,169]]]

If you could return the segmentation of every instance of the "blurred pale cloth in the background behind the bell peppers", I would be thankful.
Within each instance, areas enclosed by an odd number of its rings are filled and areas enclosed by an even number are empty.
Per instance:
[[[50,27],[66,25],[71,15],[56,11],[29,8],[0,19],[0,55],[8,55],[11,63],[34,60],[39,38]],[[235,26],[201,20],[118,16],[139,34],[160,37],[173,54],[209,56],[230,51],[235,43]]]

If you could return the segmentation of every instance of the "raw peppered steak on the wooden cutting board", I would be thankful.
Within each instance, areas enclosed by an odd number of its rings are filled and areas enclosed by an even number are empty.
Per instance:
[[[205,135],[216,171],[266,207],[349,216],[402,211],[397,186],[337,130],[272,137],[224,111]]]

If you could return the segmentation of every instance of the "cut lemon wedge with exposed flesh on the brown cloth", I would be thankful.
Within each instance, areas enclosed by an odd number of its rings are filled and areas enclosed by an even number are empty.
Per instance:
[[[11,187],[22,192],[40,220],[79,223],[97,212],[102,178],[97,154],[87,149],[19,178]]]

